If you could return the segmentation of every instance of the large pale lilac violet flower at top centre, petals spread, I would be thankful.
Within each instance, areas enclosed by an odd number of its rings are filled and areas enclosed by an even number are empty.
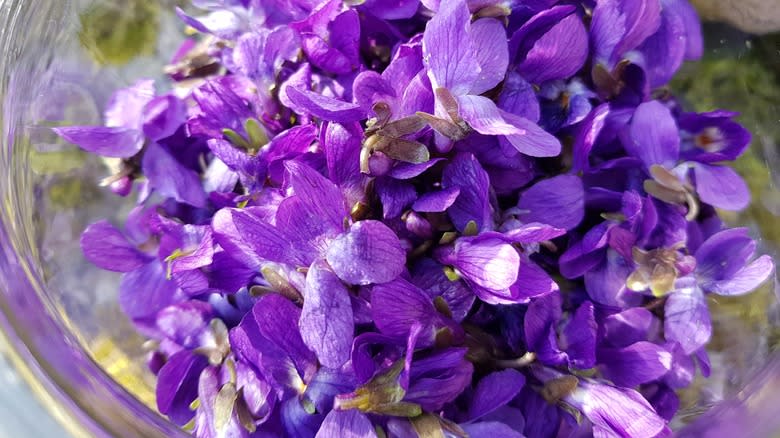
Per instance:
[[[480,94],[495,87],[506,74],[509,49],[498,20],[471,23],[465,1],[446,2],[428,22],[423,35],[423,59],[436,94],[435,117],[425,116],[445,137],[462,139],[467,127],[480,134],[503,135],[518,151],[555,156],[560,144],[535,123],[503,112]],[[464,122],[468,125],[464,125]],[[540,142],[528,145],[530,135]]]

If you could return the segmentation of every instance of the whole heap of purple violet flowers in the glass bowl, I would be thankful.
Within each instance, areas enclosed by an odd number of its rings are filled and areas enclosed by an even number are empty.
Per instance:
[[[664,88],[686,0],[194,0],[104,126],[81,239],[198,437],[655,437],[707,296],[774,272],[717,209],[734,113]],[[698,370],[698,371],[697,371]]]

